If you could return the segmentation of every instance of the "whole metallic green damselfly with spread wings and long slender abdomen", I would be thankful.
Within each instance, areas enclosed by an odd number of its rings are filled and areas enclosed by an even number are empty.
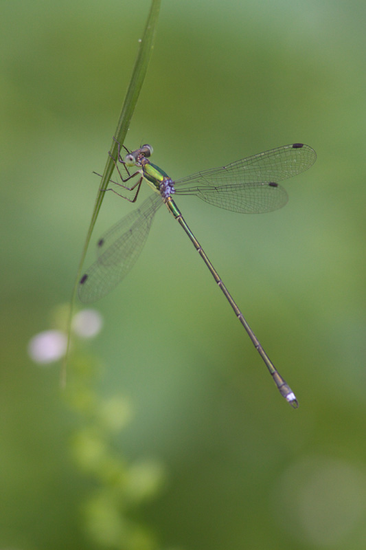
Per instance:
[[[80,279],[80,300],[84,303],[98,300],[122,281],[144,247],[155,213],[162,204],[165,204],[207,265],[266,364],[279,392],[293,408],[297,408],[295,394],[268,358],[227,287],[222,283],[218,272],[185,222],[172,195],[194,195],[214,206],[242,214],[271,212],[284,206],[288,199],[286,191],[279,186],[278,182],[310,168],[317,158],[315,151],[308,145],[294,143],[173,181],[161,168],[150,162],[149,157],[152,154],[150,145],[144,145],[136,151],[128,151],[126,147],[124,148],[127,152],[125,157],[122,158],[121,148],[118,146],[118,157],[113,159],[122,183],[117,181],[111,181],[111,183],[117,185],[118,190],[121,188],[128,191],[135,190],[135,196],[129,199],[120,195],[116,188],[108,190],[112,190],[130,202],[135,202],[141,182],[145,180],[155,193],[148,197],[140,208],[113,225],[98,241],[98,259]],[[119,170],[120,166],[126,170],[125,177]],[[133,166],[136,171],[131,174],[128,168]],[[134,178],[138,179],[133,186],[125,185]]]

